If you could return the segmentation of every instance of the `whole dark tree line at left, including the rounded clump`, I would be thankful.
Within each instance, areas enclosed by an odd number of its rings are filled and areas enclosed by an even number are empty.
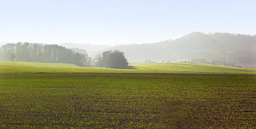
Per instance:
[[[29,42],[2,45],[0,61],[71,63],[82,67],[128,68],[124,53],[118,50],[99,53],[92,60],[85,52],[81,54],[58,45],[30,44]]]

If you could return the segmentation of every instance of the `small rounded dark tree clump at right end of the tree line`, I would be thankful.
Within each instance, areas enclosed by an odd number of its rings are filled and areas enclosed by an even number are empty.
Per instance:
[[[121,51],[105,51],[95,56],[94,66],[126,69],[128,68],[128,62]]]

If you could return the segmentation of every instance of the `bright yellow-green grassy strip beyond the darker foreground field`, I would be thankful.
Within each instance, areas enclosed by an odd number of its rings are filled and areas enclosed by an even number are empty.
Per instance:
[[[74,64],[0,62],[0,73],[209,73],[256,74],[256,69],[220,67],[207,64],[157,63],[135,64],[136,69],[78,67]]]

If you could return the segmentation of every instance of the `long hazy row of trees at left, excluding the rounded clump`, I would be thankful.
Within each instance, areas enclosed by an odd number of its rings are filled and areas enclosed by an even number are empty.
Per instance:
[[[71,49],[58,45],[30,44],[18,42],[0,47],[1,61],[26,61],[45,63],[71,63],[77,66],[89,66],[91,58],[87,54],[75,53]]]

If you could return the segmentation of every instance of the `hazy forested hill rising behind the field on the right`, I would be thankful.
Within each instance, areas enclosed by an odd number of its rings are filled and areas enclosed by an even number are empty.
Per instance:
[[[176,40],[153,44],[120,45],[128,61],[207,61],[218,64],[256,65],[256,35],[193,32]]]

